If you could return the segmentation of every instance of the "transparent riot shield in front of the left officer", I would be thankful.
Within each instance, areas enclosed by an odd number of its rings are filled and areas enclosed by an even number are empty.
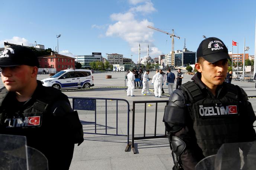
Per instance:
[[[0,134],[0,170],[48,170],[47,158],[26,137]]]

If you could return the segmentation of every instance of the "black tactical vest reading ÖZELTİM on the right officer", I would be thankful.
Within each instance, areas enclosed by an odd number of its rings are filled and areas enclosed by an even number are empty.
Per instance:
[[[239,141],[239,118],[243,108],[237,94],[241,92],[238,86],[223,85],[227,86],[227,91],[220,99],[203,93],[194,82],[180,87],[188,94],[189,114],[204,156],[216,154],[223,143]]]

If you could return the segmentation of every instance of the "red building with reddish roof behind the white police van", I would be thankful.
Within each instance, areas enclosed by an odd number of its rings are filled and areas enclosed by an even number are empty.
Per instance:
[[[75,58],[61,54],[52,54],[38,57],[39,69],[44,68],[50,72],[59,72],[68,68],[75,68]]]

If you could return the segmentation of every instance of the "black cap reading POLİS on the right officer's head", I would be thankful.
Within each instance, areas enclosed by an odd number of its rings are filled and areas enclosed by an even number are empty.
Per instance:
[[[196,51],[196,57],[202,57],[210,63],[230,59],[228,49],[223,41],[215,37],[209,37],[200,43]]]

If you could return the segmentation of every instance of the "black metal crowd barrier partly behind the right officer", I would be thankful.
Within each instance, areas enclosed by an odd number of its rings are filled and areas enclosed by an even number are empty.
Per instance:
[[[164,135],[156,135],[156,125],[157,125],[157,104],[158,103],[166,103],[168,104],[168,100],[155,100],[155,101],[133,101],[132,103],[132,143],[130,143],[132,151],[134,154],[137,153],[137,151],[134,148],[134,140],[140,140],[140,139],[152,139],[152,138],[165,138],[166,136],[166,130]],[[143,137],[134,137],[134,125],[135,125],[135,104],[137,103],[144,103],[144,133]],[[146,133],[146,117],[147,117],[147,103],[156,103],[156,109],[155,109],[155,126],[154,126],[154,135],[153,136],[145,136]]]

